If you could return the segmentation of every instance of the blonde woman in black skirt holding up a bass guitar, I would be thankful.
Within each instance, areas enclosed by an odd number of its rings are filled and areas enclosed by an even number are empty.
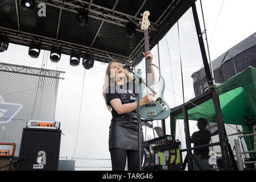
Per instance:
[[[145,54],[143,53],[145,56]],[[153,55],[147,52],[146,58],[150,57],[152,63]],[[151,66],[152,67],[152,66]],[[154,78],[154,69],[152,77]],[[155,79],[153,79],[155,80]],[[135,84],[130,73],[122,68],[122,64],[116,61],[109,63],[106,69],[103,96],[106,106],[112,113],[109,127],[109,151],[112,160],[113,171],[123,171],[126,165],[126,156],[129,171],[139,170],[138,151],[138,125]],[[152,101],[152,94],[143,97],[139,104],[142,106]],[[142,139],[143,133],[141,130]],[[143,156],[143,141],[142,156]]]

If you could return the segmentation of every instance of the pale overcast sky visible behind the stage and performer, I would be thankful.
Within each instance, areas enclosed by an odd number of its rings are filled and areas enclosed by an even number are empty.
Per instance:
[[[212,60],[255,32],[255,0],[203,0],[202,3]],[[197,1],[196,5],[201,19],[200,1]],[[150,19],[150,16],[148,18]],[[203,24],[201,27],[203,31]],[[183,103],[180,55],[186,100],[195,97],[191,75],[198,71],[203,64],[191,9],[179,20],[179,33],[180,37],[177,35],[177,24],[175,24],[159,43],[161,75],[166,80],[164,99],[170,107]],[[157,47],[151,51],[154,53],[153,63],[158,65]],[[47,51],[41,51],[38,59],[31,58],[27,53],[28,47],[10,44],[8,50],[0,54],[0,61],[36,68],[41,68],[42,62],[46,61],[47,64],[44,65],[44,68],[65,71],[65,80],[59,81],[55,119],[61,122],[61,130],[64,134],[61,135],[60,156],[68,156],[68,159],[71,159],[75,154],[75,158],[110,159],[108,135],[112,115],[106,109],[101,93],[107,64],[95,62],[92,69],[85,71],[81,64],[78,67],[69,65],[69,56],[67,55],[61,55],[59,63],[52,63],[49,60],[49,54],[47,60],[43,57]],[[143,67],[144,61],[138,65],[137,69],[140,68],[143,71]],[[159,75],[156,68],[155,71]],[[82,90],[83,83],[84,90]],[[167,119],[167,134],[170,134],[168,133],[170,132],[169,121]],[[160,125],[160,122],[154,122],[154,125]],[[195,122],[191,122],[189,125],[191,134],[197,131]],[[146,135],[154,137],[148,128]],[[176,135],[184,145],[182,122],[177,122]],[[107,167],[110,164],[110,160],[84,159],[76,162],[76,166]],[[102,168],[76,169],[100,170]]]

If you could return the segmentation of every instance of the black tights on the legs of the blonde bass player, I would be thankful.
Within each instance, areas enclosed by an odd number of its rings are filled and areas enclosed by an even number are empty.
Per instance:
[[[128,160],[129,171],[139,171],[139,151],[125,150],[122,148],[110,149],[112,170],[113,171],[124,171],[126,164],[126,156]],[[142,152],[143,160],[143,152]]]

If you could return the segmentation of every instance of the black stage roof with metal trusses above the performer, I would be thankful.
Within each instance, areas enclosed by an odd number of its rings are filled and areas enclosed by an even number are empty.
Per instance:
[[[42,49],[61,46],[62,52],[92,54],[94,60],[109,63],[138,64],[144,49],[144,34],[139,22],[141,14],[150,11],[151,26],[148,28],[150,49],[170,30],[177,20],[196,0],[42,0],[35,1],[35,8],[25,11],[21,0],[0,1],[0,34],[9,37],[10,43],[29,46],[40,42]],[[46,5],[46,16],[42,13]],[[42,4],[40,4],[42,5]],[[88,23],[77,24],[76,15],[80,9],[89,10]],[[136,35],[125,35],[126,24],[133,22]],[[7,50],[8,51],[8,50]]]

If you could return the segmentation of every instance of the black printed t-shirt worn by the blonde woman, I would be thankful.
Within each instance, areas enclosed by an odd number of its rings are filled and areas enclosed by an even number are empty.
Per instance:
[[[122,104],[135,102],[136,95],[134,93],[135,84],[133,81],[128,82],[126,85],[109,85],[106,90],[106,104],[111,106],[110,101],[115,98],[119,98]],[[112,113],[118,114],[113,107]]]

